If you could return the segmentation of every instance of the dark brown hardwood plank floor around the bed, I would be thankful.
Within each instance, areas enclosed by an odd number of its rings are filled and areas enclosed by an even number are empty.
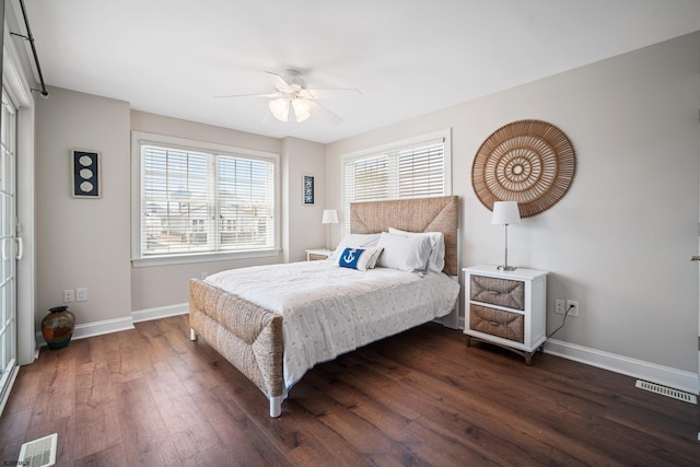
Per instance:
[[[698,406],[435,324],[317,365],[270,419],[187,319],[43,350],[0,419],[0,464],[57,432],[59,466],[700,465]]]

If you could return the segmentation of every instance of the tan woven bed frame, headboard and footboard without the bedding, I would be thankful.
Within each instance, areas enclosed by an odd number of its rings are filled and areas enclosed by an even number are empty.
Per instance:
[[[357,202],[350,206],[350,231],[443,232],[443,271],[457,276],[458,212],[456,196]],[[267,396],[270,417],[279,417],[287,397],[282,316],[198,279],[190,280],[189,291],[190,339],[205,338]]]

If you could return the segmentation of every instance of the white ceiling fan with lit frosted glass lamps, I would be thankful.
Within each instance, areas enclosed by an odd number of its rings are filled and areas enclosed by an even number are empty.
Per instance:
[[[306,81],[296,70],[284,70],[281,73],[265,71],[265,73],[273,77],[275,91],[262,94],[232,94],[220,95],[214,98],[228,97],[266,97],[269,98],[268,107],[270,114],[280,121],[302,122],[308,117],[319,115],[332,125],[339,125],[342,118],[334,114],[323,105],[316,102],[323,98],[324,94],[348,92],[362,95],[357,89],[332,89],[332,90],[310,90]]]

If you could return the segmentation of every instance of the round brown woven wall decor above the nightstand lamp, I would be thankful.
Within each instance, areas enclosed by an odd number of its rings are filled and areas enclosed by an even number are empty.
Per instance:
[[[521,218],[551,208],[569,190],[576,154],[563,131],[540,120],[518,120],[491,133],[474,157],[471,184],[489,210],[517,201]]]

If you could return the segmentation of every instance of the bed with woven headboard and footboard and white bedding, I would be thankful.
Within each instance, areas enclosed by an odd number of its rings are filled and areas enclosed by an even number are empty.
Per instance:
[[[406,236],[441,232],[442,272],[381,267],[380,256],[380,267],[362,272],[338,267],[336,258],[233,269],[190,281],[190,339],[202,337],[248,377],[269,399],[270,417],[281,415],[289,389],[314,364],[456,313],[456,196],[352,203],[350,224],[355,237],[374,234],[381,242],[389,229]]]

